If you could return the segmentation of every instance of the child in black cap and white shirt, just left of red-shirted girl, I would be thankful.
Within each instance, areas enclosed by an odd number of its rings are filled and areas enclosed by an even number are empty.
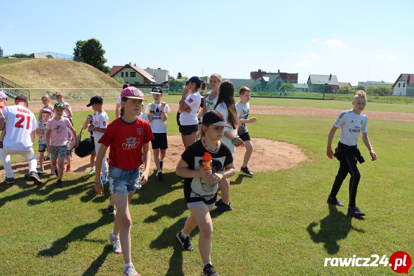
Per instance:
[[[87,107],[92,106],[92,110],[94,110],[95,114],[95,120],[93,123],[94,129],[94,142],[95,142],[95,152],[99,151],[99,148],[101,147],[101,144],[98,143],[99,139],[103,136],[106,130],[106,126],[108,125],[108,114],[106,114],[105,111],[103,111],[103,99],[101,96],[94,96],[90,99],[89,103],[86,105]],[[106,152],[102,161],[102,183],[105,184],[108,182],[108,163],[106,162]]]

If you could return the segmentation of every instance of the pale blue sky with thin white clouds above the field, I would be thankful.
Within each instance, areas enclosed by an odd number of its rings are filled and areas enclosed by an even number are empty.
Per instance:
[[[334,74],[355,85],[414,73],[412,0],[15,0],[0,9],[5,55],[72,55],[76,41],[96,38],[106,65],[161,67],[173,77],[248,79],[262,69],[303,81]]]

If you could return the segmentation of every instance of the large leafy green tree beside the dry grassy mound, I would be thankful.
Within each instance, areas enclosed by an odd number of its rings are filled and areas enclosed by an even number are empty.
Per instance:
[[[101,42],[95,38],[89,38],[87,41],[79,40],[73,48],[73,55],[84,58],[84,62],[95,67],[102,72],[109,74],[111,68],[106,66],[106,58],[103,57],[105,50]]]

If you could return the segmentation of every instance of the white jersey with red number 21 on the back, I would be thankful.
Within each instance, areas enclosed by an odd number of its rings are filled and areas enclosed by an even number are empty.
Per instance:
[[[6,117],[6,136],[3,148],[17,151],[29,151],[32,148],[30,134],[37,128],[33,112],[24,106],[7,106],[3,110]]]

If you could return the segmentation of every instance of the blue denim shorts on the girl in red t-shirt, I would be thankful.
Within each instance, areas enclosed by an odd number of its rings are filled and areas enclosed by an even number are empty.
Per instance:
[[[139,167],[133,170],[124,170],[109,166],[109,192],[111,194],[129,194],[129,192],[135,192],[135,190],[141,188],[141,184],[138,183],[140,176]]]

